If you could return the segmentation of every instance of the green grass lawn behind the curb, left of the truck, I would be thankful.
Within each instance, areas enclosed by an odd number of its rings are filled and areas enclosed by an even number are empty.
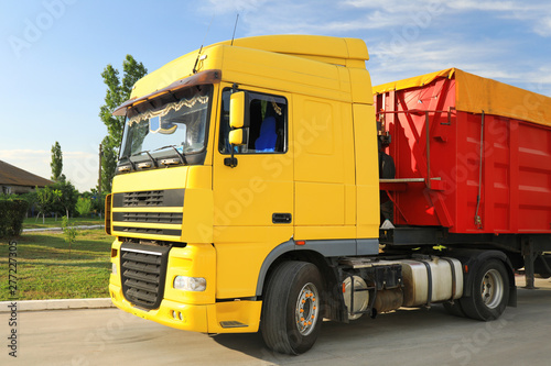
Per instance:
[[[102,230],[78,231],[71,255],[63,233],[24,233],[17,242],[18,300],[109,297],[112,236]],[[13,300],[8,253],[0,240],[0,301]]]

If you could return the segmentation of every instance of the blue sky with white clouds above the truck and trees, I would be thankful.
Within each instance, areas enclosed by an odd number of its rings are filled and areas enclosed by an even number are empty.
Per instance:
[[[97,186],[101,71],[153,71],[205,45],[268,34],[366,42],[374,85],[449,67],[551,96],[549,0],[0,0],[0,159]]]

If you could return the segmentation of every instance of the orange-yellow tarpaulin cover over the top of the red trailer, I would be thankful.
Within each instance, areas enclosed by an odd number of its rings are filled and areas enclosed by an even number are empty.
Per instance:
[[[458,111],[504,115],[551,126],[551,98],[486,79],[457,68],[425,74],[375,86],[374,93],[421,87],[433,80],[455,77],[455,108]]]

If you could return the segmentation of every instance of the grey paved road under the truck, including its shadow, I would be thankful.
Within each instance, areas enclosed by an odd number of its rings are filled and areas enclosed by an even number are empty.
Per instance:
[[[500,320],[455,318],[441,306],[399,310],[350,324],[325,322],[313,350],[273,354],[259,334],[181,332],[118,309],[18,313],[18,358],[9,313],[0,314],[0,365],[549,365],[551,282],[519,289]]]

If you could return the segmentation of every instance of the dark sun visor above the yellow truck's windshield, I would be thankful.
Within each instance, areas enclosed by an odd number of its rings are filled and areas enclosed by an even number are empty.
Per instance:
[[[127,109],[130,107],[133,107],[136,104],[140,104],[142,102],[145,102],[148,100],[152,100],[155,98],[159,98],[161,96],[164,96],[170,92],[177,91],[183,88],[188,88],[192,86],[196,85],[208,85],[208,84],[216,84],[220,82],[222,80],[222,71],[220,70],[205,70],[197,73],[195,75],[192,75],[190,77],[176,80],[172,82],[170,86],[155,90],[147,96],[140,97],[140,98],[133,98],[129,99],[119,107],[117,107],[112,111],[112,115],[126,115]]]

